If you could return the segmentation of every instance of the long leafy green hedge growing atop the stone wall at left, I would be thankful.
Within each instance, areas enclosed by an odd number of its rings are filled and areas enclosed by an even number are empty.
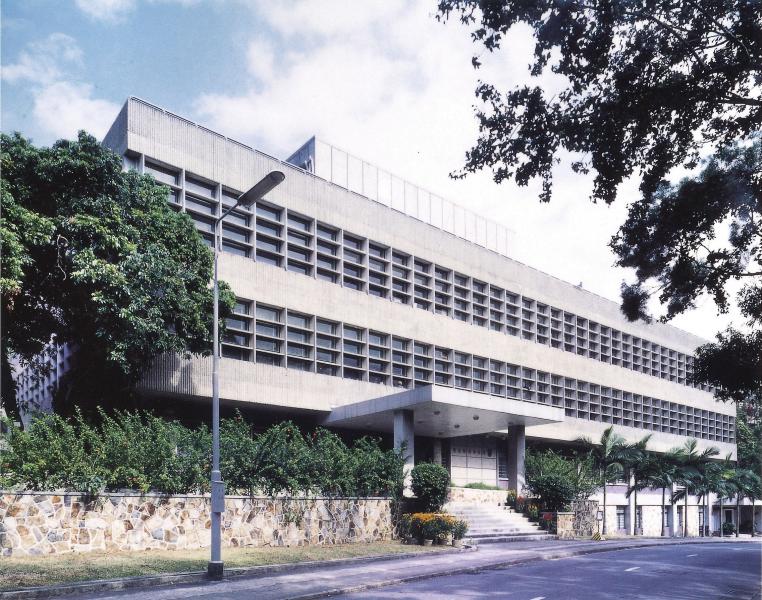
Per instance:
[[[211,435],[148,412],[100,411],[97,423],[41,415],[26,429],[5,421],[0,488],[70,490],[90,495],[131,489],[161,494],[209,490]],[[399,496],[401,453],[361,438],[309,435],[291,422],[252,436],[237,414],[220,424],[220,468],[229,494]]]

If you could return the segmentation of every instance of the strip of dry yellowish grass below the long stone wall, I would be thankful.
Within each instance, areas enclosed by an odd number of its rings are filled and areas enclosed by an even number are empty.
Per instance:
[[[372,544],[290,548],[223,548],[222,558],[226,567],[233,568],[401,554],[404,552],[436,552],[442,549],[442,546],[406,546],[400,542],[391,541]],[[86,552],[0,558],[0,573],[2,573],[0,590],[73,583],[90,579],[205,571],[208,560],[208,548],[199,550],[146,550],[111,554]]]

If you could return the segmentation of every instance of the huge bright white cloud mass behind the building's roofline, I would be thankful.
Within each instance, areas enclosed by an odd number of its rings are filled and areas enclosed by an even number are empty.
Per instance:
[[[514,28],[495,54],[473,46],[456,21],[433,18],[430,2],[301,0],[260,3],[255,20],[269,35],[248,45],[251,80],[237,94],[203,94],[196,102],[210,127],[285,157],[315,134],[515,232],[512,255],[531,266],[617,300],[629,273],[613,268],[607,247],[637,185],[622,187],[610,207],[588,200],[590,177],[556,169],[554,197],[540,204],[539,183],[496,185],[488,173],[454,181],[476,139],[478,79],[504,88],[540,84],[560,89],[558,76],[532,80],[528,28]],[[483,67],[471,68],[480,52]],[[703,301],[702,301],[703,302]],[[654,308],[658,308],[654,306]],[[711,336],[722,327],[711,302],[676,321]]]

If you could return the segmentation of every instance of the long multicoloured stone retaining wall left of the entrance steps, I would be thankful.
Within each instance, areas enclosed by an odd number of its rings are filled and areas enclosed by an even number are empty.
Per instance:
[[[222,543],[306,546],[391,539],[388,498],[228,496]],[[173,550],[210,543],[208,496],[0,492],[0,556]]]

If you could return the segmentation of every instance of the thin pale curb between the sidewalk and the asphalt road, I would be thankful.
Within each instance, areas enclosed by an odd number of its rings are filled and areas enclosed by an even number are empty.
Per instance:
[[[751,540],[749,540],[751,542]],[[389,587],[393,585],[401,585],[403,583],[414,583],[417,581],[425,581],[426,579],[434,579],[435,577],[441,577],[443,575],[468,575],[478,573],[480,571],[487,571],[492,569],[505,569],[508,567],[524,565],[531,562],[539,562],[543,560],[558,560],[561,558],[572,558],[575,556],[584,556],[586,554],[598,554],[601,552],[616,552],[618,550],[631,550],[633,548],[651,548],[656,546],[683,546],[688,544],[724,544],[728,542],[712,541],[712,542],[691,542],[691,541],[674,541],[674,542],[661,542],[655,544],[628,544],[624,546],[617,546],[616,548],[595,547],[595,548],[580,548],[579,550],[560,550],[551,551],[545,554],[536,556],[525,556],[522,558],[514,558],[511,560],[499,561],[490,563],[487,565],[478,565],[473,567],[462,567],[460,569],[449,569],[448,571],[436,572],[436,573],[424,573],[420,575],[411,575],[410,577],[399,577],[397,579],[389,579],[385,581],[377,581],[373,583],[361,584],[356,586],[348,586],[343,588],[333,588],[330,590],[323,590],[321,592],[313,592],[310,594],[303,594],[300,596],[288,596],[285,600],[317,600],[318,598],[329,598],[331,596],[339,596],[342,594],[356,594],[368,590],[375,590],[383,587]]]

